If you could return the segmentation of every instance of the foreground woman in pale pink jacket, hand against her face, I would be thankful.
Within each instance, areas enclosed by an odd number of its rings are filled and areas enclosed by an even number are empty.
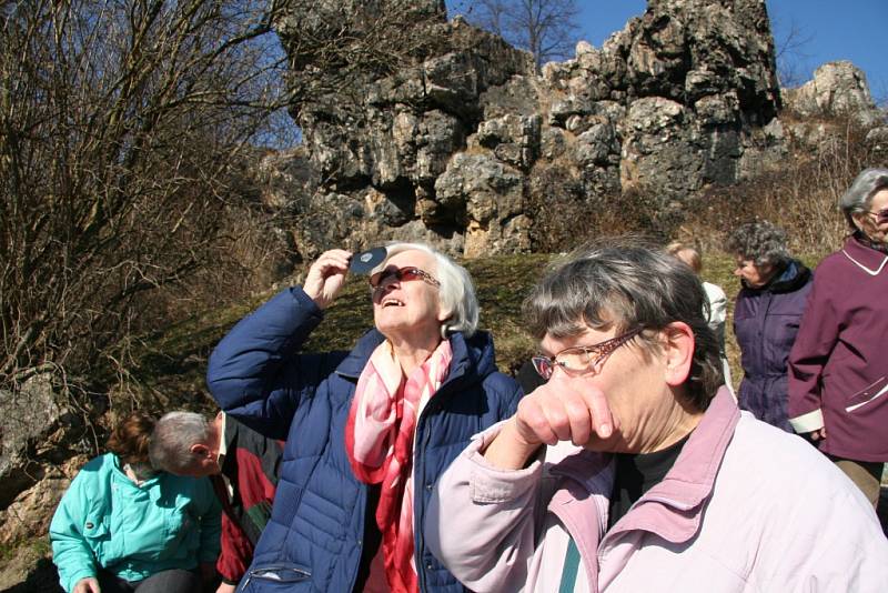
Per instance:
[[[466,586],[884,590],[872,509],[719,386],[704,299],[688,267],[617,241],[533,291],[525,315],[548,382],[473,440],[426,517],[425,541]]]

